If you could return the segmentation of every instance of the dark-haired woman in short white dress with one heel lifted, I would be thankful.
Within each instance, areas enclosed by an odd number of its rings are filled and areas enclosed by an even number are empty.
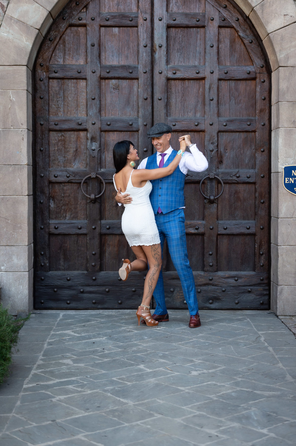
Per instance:
[[[141,317],[148,326],[158,325],[151,316],[149,304],[159,277],[162,260],[159,233],[149,199],[152,190],[149,180],[171,175],[179,165],[185,149],[185,141],[181,140],[180,150],[167,167],[134,170],[135,161],[139,160],[139,157],[133,143],[124,140],[117,142],[113,148],[113,161],[116,168],[116,173],[113,175],[115,189],[120,188],[121,191],[125,191],[122,192],[123,194],[132,195],[132,203],[124,205],[121,227],[129,246],[136,255],[136,260],[133,262],[124,260],[119,275],[125,281],[131,271],[145,271],[149,265],[142,303],[136,312],[138,325],[140,325]]]

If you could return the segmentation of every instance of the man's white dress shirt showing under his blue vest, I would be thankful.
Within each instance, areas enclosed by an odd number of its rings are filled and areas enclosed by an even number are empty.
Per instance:
[[[184,152],[184,155],[181,158],[181,161],[179,163],[180,171],[186,175],[188,170],[192,170],[192,172],[203,172],[204,170],[208,169],[207,158],[197,149],[196,144],[192,145],[189,150],[191,153]],[[164,162],[166,162],[168,157],[172,153],[172,147],[169,146],[168,150],[166,150],[164,153],[166,153],[164,157]],[[148,157],[141,161],[138,169],[146,169],[147,160]],[[157,165],[159,165],[160,160],[161,155],[157,152]]]

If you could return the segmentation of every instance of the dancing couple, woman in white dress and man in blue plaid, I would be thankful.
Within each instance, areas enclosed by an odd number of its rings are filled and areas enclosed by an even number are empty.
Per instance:
[[[141,161],[138,169],[134,169],[139,160],[134,144],[124,140],[114,145],[116,201],[120,206],[124,205],[122,231],[136,256],[132,262],[124,260],[119,274],[125,281],[131,271],[148,268],[143,299],[136,312],[138,325],[142,322],[156,326],[168,321],[161,271],[164,239],[167,239],[188,305],[189,327],[196,328],[200,326],[200,316],[186,246],[184,183],[188,170],[202,172],[208,168],[208,161],[192,144],[190,135],[180,136],[178,152],[172,149],[171,132],[172,127],[164,123],[155,124],[148,130],[156,153]],[[185,152],[186,147],[190,152]],[[153,315],[150,313],[152,294],[156,301]]]

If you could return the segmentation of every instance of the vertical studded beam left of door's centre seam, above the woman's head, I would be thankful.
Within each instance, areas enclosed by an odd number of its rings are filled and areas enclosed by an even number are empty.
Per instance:
[[[147,46],[144,46],[147,45]],[[138,1],[139,47],[139,157],[152,154],[151,141],[147,137],[152,127],[152,61],[151,61],[151,1]],[[145,98],[145,99],[144,99]]]

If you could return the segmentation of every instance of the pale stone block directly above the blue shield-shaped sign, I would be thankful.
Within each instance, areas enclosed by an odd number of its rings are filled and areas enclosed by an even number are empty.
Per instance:
[[[272,130],[272,172],[282,172],[283,166],[295,164],[296,128]]]

